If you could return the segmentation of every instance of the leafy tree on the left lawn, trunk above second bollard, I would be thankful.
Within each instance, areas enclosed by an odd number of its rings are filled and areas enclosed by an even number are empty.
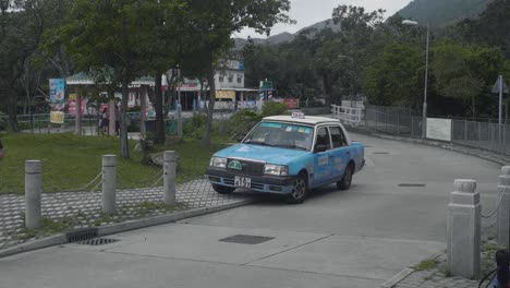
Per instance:
[[[153,57],[161,11],[150,0],[76,0],[66,25],[58,28],[53,43],[62,43],[65,52],[82,71],[110,74],[108,82],[122,91],[120,143],[127,158],[129,143],[125,112],[129,85],[146,72]]]

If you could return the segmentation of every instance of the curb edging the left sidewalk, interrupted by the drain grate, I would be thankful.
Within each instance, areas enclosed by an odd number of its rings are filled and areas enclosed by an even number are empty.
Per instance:
[[[245,199],[239,202],[223,204],[223,205],[214,206],[214,207],[201,207],[201,208],[194,208],[190,211],[178,212],[178,213],[170,214],[170,215],[161,215],[161,216],[156,216],[156,217],[150,217],[150,218],[111,224],[111,225],[98,227],[98,235],[102,237],[102,236],[124,232],[129,230],[135,230],[135,229],[150,227],[150,226],[175,223],[175,221],[186,219],[186,218],[193,218],[193,217],[203,216],[203,215],[207,215],[207,214],[211,214],[211,213],[216,213],[220,211],[245,206],[254,202],[255,202],[254,199]],[[28,252],[28,251],[39,250],[42,248],[65,244],[65,243],[68,243],[68,237],[65,236],[65,233],[59,233],[59,235],[50,236],[47,238],[36,239],[34,241],[22,243],[15,247],[1,249],[0,259],[11,256],[14,254]]]

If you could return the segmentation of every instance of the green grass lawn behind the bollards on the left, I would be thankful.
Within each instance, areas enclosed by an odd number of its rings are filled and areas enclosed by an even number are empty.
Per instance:
[[[120,157],[119,139],[109,136],[76,136],[73,134],[0,135],[4,157],[0,160],[0,194],[24,193],[24,161],[42,161],[42,189],[45,192],[72,190],[87,184],[101,169],[101,156],[118,156],[118,185],[147,187],[157,179],[161,167],[143,165],[143,153],[134,152],[135,141],[130,142],[130,159]],[[224,140],[217,140],[224,143]],[[224,147],[214,144],[204,147],[199,142],[185,141],[171,147],[179,155],[178,182],[202,177],[214,152]]]

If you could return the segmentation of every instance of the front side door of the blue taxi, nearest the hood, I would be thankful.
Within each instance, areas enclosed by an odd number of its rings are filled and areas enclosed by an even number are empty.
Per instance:
[[[317,129],[314,146],[314,177],[311,187],[327,184],[331,179],[333,155],[331,154],[331,139],[326,127]]]

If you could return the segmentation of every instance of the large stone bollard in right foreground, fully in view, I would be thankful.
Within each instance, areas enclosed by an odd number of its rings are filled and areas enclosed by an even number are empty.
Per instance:
[[[471,278],[479,272],[481,212],[476,181],[457,179],[448,205],[448,265],[453,276]]]

